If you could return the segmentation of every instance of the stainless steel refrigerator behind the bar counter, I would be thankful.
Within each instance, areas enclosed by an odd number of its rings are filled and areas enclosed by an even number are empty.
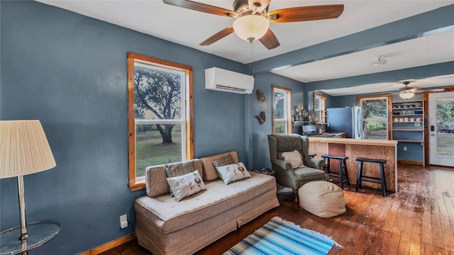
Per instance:
[[[345,138],[362,138],[361,107],[326,108],[327,132],[345,132]]]

